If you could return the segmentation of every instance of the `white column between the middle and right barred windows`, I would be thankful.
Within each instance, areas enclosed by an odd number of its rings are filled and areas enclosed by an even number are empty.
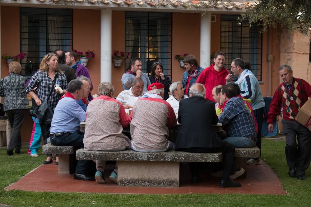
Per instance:
[[[206,68],[211,65],[211,13],[201,16],[200,36],[200,66]]]

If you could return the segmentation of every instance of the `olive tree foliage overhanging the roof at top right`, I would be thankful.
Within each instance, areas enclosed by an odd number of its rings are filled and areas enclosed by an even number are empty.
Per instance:
[[[249,24],[262,26],[262,31],[268,27],[299,30],[309,34],[311,22],[310,0],[262,0],[251,9],[241,14],[241,20]]]

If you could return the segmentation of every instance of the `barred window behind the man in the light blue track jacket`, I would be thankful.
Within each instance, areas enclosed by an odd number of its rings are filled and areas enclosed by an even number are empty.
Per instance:
[[[262,81],[262,34],[259,31],[260,27],[249,27],[249,23],[239,21],[238,16],[221,15],[220,50],[226,55],[225,68],[230,70],[232,60],[241,58],[250,63],[253,74]]]

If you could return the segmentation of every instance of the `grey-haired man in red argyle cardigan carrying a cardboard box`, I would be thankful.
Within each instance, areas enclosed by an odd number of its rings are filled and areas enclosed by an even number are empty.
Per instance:
[[[273,95],[268,115],[268,130],[272,132],[273,121],[283,109],[283,130],[286,136],[285,155],[289,166],[288,175],[305,179],[305,170],[311,160],[311,131],[296,121],[300,107],[311,97],[311,86],[303,79],[293,77],[293,70],[287,64],[281,65],[281,83]],[[298,145],[296,142],[296,137]]]

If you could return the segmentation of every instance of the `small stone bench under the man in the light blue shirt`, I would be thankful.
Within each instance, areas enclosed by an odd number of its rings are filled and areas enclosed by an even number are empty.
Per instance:
[[[43,154],[58,154],[58,173],[72,174],[75,170],[73,146],[54,146],[47,143],[42,146]]]

